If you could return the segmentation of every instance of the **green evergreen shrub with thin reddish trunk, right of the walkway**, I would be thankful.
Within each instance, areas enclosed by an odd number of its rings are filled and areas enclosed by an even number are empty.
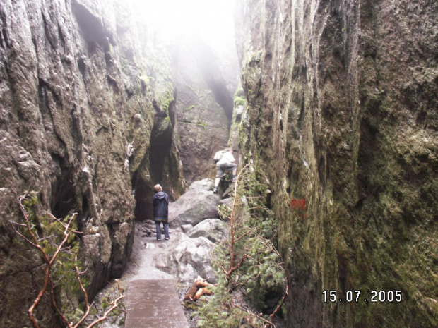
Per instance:
[[[230,238],[211,254],[218,284],[214,296],[199,309],[198,327],[275,327],[273,319],[283,306],[288,283],[275,247],[274,214],[260,196],[264,192],[247,165],[237,176],[232,204],[220,206],[221,217],[229,221]],[[285,296],[267,308],[267,293],[281,295],[283,288]]]

